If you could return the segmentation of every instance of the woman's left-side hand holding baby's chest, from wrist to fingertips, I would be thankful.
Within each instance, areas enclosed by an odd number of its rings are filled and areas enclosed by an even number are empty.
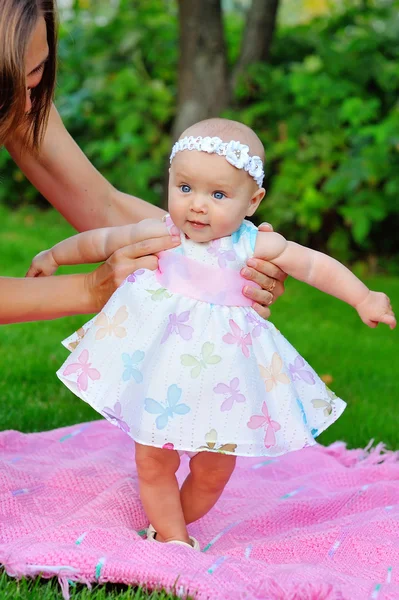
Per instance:
[[[114,252],[104,264],[86,275],[87,291],[93,304],[91,312],[99,312],[126,277],[134,271],[155,271],[158,267],[155,254],[175,248],[179,244],[180,239],[176,241],[170,235],[165,235],[143,240]]]

